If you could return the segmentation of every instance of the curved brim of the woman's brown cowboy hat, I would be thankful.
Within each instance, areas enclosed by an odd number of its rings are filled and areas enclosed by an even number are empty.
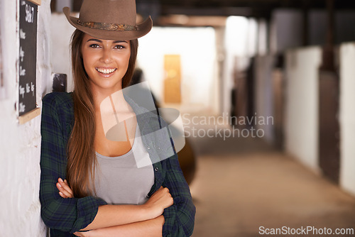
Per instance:
[[[79,18],[70,16],[69,7],[66,6],[65,8],[63,8],[63,13],[67,17],[67,21],[69,21],[72,26],[84,33],[92,35],[94,38],[99,38],[102,40],[134,40],[136,38],[140,38],[146,35],[149,31],[151,31],[151,28],[153,27],[152,18],[151,16],[148,16],[148,18],[146,18],[146,21],[143,21],[142,23],[137,25],[138,29],[136,31],[109,31],[103,29],[89,28],[86,26],[79,25],[77,23],[77,20]]]

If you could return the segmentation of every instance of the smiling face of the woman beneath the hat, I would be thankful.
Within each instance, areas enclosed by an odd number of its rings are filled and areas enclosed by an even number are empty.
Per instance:
[[[122,89],[122,77],[126,74],[131,56],[129,40],[100,40],[85,34],[81,50],[92,92],[112,94]]]

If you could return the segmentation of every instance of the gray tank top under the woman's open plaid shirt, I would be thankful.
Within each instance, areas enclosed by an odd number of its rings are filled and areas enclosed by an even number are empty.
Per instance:
[[[138,205],[148,200],[147,194],[154,184],[154,172],[138,126],[128,153],[117,157],[96,155],[94,184],[97,197],[108,204]]]

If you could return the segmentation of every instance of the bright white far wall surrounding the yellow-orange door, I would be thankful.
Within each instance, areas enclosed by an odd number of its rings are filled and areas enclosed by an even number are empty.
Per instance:
[[[181,58],[182,106],[214,109],[217,100],[215,33],[213,28],[153,27],[139,39],[137,63],[158,100],[163,102],[164,55]]]

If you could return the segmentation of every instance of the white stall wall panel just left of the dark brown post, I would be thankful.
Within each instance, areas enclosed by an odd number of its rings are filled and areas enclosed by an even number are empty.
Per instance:
[[[318,168],[318,67],[320,47],[286,53],[285,150]]]

